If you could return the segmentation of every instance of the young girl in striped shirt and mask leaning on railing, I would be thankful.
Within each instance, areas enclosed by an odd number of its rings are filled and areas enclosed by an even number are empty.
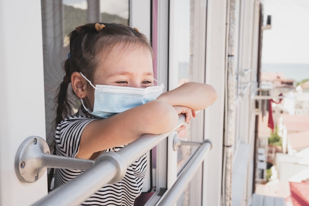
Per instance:
[[[173,130],[178,115],[186,122],[196,110],[211,105],[217,93],[210,85],[189,82],[162,93],[153,73],[153,51],[137,29],[120,24],[86,24],[70,34],[66,75],[60,84],[55,131],[56,154],[95,160],[105,152],[116,152],[143,134]],[[80,107],[68,99],[71,83]],[[72,116],[71,116],[72,115]],[[130,167],[116,184],[102,187],[82,205],[133,206],[141,194],[146,155]],[[82,173],[56,169],[58,188]]]

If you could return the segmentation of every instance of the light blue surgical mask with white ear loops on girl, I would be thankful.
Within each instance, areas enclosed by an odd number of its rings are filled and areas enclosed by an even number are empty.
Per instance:
[[[164,85],[146,88],[96,84],[95,86],[82,73],[80,75],[90,83],[94,90],[94,105],[91,112],[81,100],[83,108],[97,118],[108,118],[133,107],[155,100],[163,92]]]

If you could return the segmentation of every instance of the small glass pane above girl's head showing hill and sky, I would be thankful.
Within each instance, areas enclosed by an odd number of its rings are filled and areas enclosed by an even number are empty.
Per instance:
[[[101,21],[129,25],[129,0],[100,0]]]

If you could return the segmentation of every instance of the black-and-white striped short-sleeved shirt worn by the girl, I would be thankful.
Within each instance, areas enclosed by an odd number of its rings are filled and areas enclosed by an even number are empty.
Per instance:
[[[55,131],[56,154],[75,158],[80,142],[80,135],[85,126],[95,120],[86,116],[81,110],[57,125]],[[116,152],[124,146],[104,150]],[[147,169],[147,155],[145,154],[127,168],[122,180],[114,184],[107,184],[85,200],[82,206],[133,206],[135,199],[141,194],[143,181]],[[54,188],[58,188],[81,174],[78,169],[55,169]]]

